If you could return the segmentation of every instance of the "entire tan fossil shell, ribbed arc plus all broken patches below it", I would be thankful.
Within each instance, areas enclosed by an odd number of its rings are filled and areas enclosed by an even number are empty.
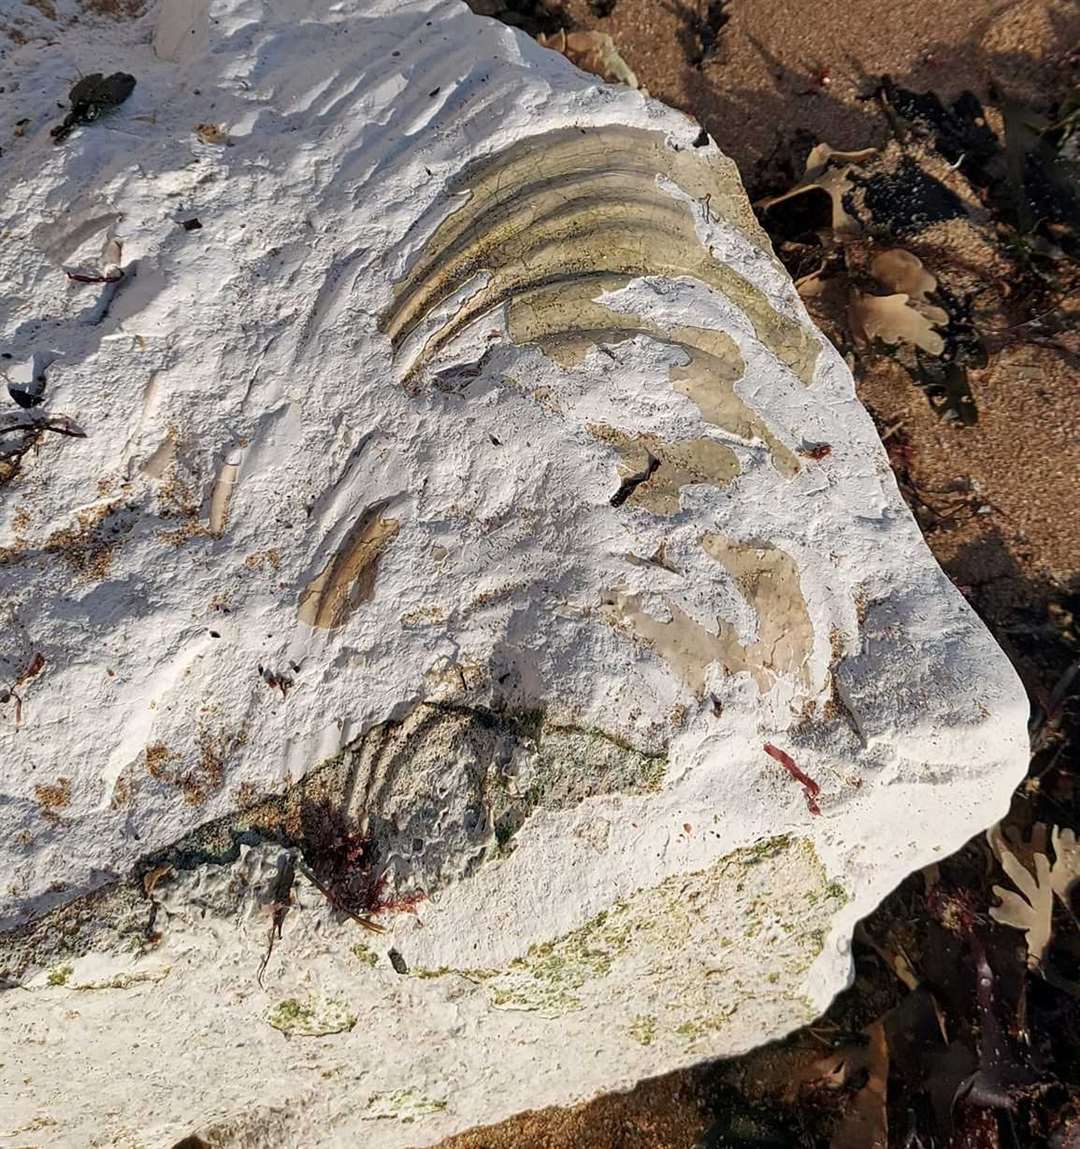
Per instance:
[[[483,329],[495,317],[516,345],[535,346],[566,369],[580,367],[589,352],[646,337],[679,353],[684,362],[670,369],[672,391],[686,395],[707,424],[767,445],[779,473],[797,472],[797,455],[735,391],[746,364],[731,336],[656,323],[602,301],[641,277],[693,277],[740,307],[769,352],[809,384],[817,338],[717,261],[695,230],[694,213],[708,218],[713,196],[722,202],[724,193],[715,157],[673,151],[657,132],[623,126],[531,137],[470,165],[447,186],[460,205],[424,244],[380,322],[406,385],[416,385],[463,330]],[[663,440],[603,424],[589,424],[588,432],[619,456],[622,485],[612,506],[674,515],[682,487],[722,486],[740,472],[735,452],[712,438]],[[730,624],[712,634],[678,607],[671,622],[657,623],[637,609],[634,596],[616,594],[607,601],[614,617],[628,622],[697,693],[710,664],[727,672],[753,665],[762,689],[776,674],[802,673],[812,632],[796,564],[772,547],[716,535],[704,535],[701,545],[720,564],[740,555],[728,570],[756,614],[753,654]]]

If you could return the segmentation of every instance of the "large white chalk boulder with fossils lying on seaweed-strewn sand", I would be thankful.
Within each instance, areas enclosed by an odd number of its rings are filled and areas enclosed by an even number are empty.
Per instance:
[[[732,164],[456,0],[202,11],[0,68],[0,1134],[419,1146],[812,1018],[1026,708]]]

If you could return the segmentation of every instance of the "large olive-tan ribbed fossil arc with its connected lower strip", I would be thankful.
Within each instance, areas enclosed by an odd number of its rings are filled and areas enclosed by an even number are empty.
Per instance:
[[[694,213],[708,216],[725,190],[709,157],[673,152],[658,132],[563,129],[523,140],[449,183],[447,194],[463,202],[396,286],[380,327],[407,377],[463,327],[483,324],[496,310],[504,309],[516,344],[534,344],[564,367],[603,344],[650,336],[684,353],[672,386],[707,422],[761,438],[789,473],[797,469],[790,450],[735,394],[745,364],[731,337],[661,329],[600,300],[641,276],[692,276],[742,308],[757,338],[809,383],[818,340],[715,259],[695,231]],[[440,317],[453,300],[461,302]]]

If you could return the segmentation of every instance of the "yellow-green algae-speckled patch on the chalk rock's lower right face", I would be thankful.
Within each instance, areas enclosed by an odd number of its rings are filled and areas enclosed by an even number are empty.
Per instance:
[[[700,1039],[731,1017],[750,979],[803,974],[846,897],[807,838],[781,834],[617,899],[583,925],[538,941],[478,982],[491,1005],[557,1018],[611,1004],[612,984],[640,982],[649,1012],[631,1036]],[[838,905],[839,902],[839,905]],[[767,957],[742,943],[767,938]],[[443,977],[469,971],[424,971]],[[618,973],[617,978],[610,976]],[[770,981],[770,974],[776,974]],[[646,1026],[642,1018],[651,1018]],[[680,1031],[681,1027],[681,1031]]]

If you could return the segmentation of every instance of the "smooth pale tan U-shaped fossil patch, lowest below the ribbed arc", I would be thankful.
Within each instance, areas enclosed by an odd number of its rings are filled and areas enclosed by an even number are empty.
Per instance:
[[[759,691],[780,674],[797,674],[809,684],[813,624],[800,587],[799,566],[790,555],[767,543],[746,543],[720,534],[704,534],[701,547],[735,579],[757,614],[757,633],[749,643],[735,627],[720,620],[716,633],[668,603],[670,622],[648,614],[641,597],[616,591],[607,610],[615,623],[626,623],[695,692],[703,694],[705,671],[718,662],[728,673],[749,671]]]

